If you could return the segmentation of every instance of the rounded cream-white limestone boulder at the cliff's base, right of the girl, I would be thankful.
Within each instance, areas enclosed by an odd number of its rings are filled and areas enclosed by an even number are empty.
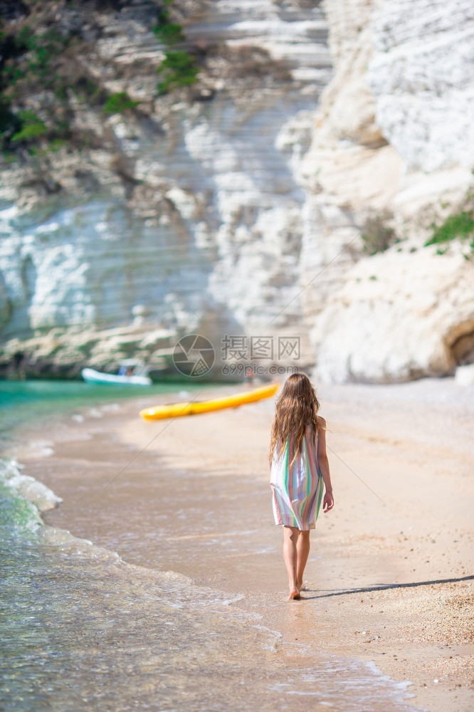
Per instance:
[[[462,255],[389,251],[347,273],[312,328],[325,382],[453,375],[474,333],[474,263]],[[474,339],[472,339],[474,357]]]

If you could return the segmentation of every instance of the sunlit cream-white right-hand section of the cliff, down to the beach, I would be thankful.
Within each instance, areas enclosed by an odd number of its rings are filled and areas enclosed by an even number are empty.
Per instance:
[[[452,374],[473,360],[472,251],[468,241],[447,251],[423,244],[433,221],[473,207],[472,5],[327,0],[325,9],[335,73],[302,168],[313,193],[306,209],[323,224],[329,212],[335,228],[332,262],[320,260],[305,290],[314,375]],[[370,252],[387,226],[395,244],[361,258],[362,237]],[[317,251],[310,231],[302,242]]]

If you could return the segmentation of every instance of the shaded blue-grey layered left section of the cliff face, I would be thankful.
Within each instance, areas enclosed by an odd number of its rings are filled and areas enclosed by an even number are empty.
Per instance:
[[[140,100],[140,111],[105,118],[80,104],[75,125],[102,148],[6,171],[6,339],[136,323],[141,305],[144,330],[198,330],[218,342],[269,329],[297,293],[305,192],[293,162],[330,78],[321,9],[175,3],[205,68],[191,95],[150,101],[166,49],[151,31],[152,8],[95,11],[94,48],[82,58],[108,91]],[[58,192],[48,197],[52,176]],[[299,326],[295,307],[290,328],[295,318]]]

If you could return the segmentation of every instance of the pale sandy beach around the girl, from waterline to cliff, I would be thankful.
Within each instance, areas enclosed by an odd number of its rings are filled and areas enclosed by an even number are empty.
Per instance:
[[[336,504],[312,533],[301,602],[285,601],[271,513],[273,399],[154,423],[137,412],[157,398],[78,409],[17,434],[16,456],[64,499],[46,523],[226,592],[283,641],[372,660],[411,680],[419,706],[466,712],[474,706],[474,389],[426,379],[318,395]]]

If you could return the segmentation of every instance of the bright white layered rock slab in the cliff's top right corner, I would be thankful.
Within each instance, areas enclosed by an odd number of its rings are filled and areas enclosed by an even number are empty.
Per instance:
[[[474,6],[376,2],[367,68],[376,123],[410,170],[474,164]]]

